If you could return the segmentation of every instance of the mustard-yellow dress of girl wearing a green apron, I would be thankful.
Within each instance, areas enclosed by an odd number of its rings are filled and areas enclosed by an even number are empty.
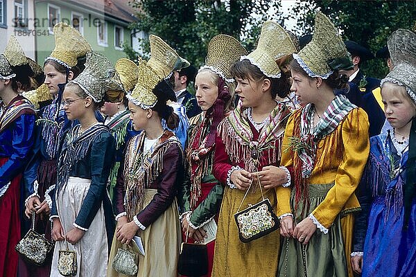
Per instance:
[[[295,125],[300,123],[301,114],[302,110],[299,110],[289,118],[282,143],[284,151],[281,155],[281,166],[286,166],[291,172],[294,170],[293,177],[302,174],[300,168],[294,168],[296,167],[294,160],[298,157],[297,152],[289,148],[290,138],[295,134]],[[320,184],[327,184],[327,186],[330,184],[322,202],[313,209],[311,215],[318,221],[322,230],[330,229],[338,215],[340,216],[349,276],[352,276],[349,258],[354,223],[352,212],[360,210],[354,191],[361,180],[370,151],[368,127],[367,114],[363,109],[354,108],[349,111],[349,114],[343,118],[333,132],[318,141],[315,166],[307,180],[309,187],[311,185],[316,187]],[[291,203],[292,190],[295,190],[295,188],[277,187],[277,216],[286,213],[295,214],[293,199]],[[303,218],[307,216],[303,216]],[[320,229],[318,228],[316,232],[320,232]],[[316,232],[309,244],[311,244],[314,236],[317,236]],[[283,253],[281,258],[284,258]]]

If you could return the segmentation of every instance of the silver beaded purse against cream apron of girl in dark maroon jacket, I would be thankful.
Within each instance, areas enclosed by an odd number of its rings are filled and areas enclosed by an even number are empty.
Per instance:
[[[124,244],[123,244],[124,245]],[[137,274],[138,258],[136,253],[131,249],[123,249],[123,246],[117,249],[116,256],[114,256],[112,267],[119,274],[127,276],[135,276]]]

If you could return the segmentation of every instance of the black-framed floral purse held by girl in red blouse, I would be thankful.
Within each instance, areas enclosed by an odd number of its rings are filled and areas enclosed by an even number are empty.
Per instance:
[[[243,205],[244,199],[247,196],[250,188],[252,187],[252,182],[248,187],[239,209],[234,214],[234,219],[236,220],[237,229],[239,229],[239,238],[241,242],[251,242],[252,240],[257,240],[272,231],[279,229],[280,222],[277,218],[275,212],[273,211],[272,205],[270,204],[269,199],[264,199],[263,189],[261,188],[260,179],[259,186],[261,191],[261,197],[263,200],[257,204],[248,204],[248,208],[243,211],[240,211],[241,205]]]

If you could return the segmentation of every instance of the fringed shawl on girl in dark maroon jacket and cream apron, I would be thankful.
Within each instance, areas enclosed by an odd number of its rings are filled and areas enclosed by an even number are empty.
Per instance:
[[[143,209],[145,188],[153,184],[162,173],[166,151],[175,144],[182,150],[180,141],[168,130],[155,143],[153,151],[143,152],[145,139],[146,133],[141,132],[130,139],[126,148],[124,206],[130,221]]]

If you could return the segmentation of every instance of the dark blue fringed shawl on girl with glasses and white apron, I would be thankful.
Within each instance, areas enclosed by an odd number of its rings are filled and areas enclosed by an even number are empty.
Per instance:
[[[92,143],[99,139],[103,132],[108,132],[108,127],[103,123],[96,123],[82,134],[79,134],[80,128],[80,124],[73,127],[64,139],[58,163],[57,193],[67,184],[73,166],[85,158]]]

